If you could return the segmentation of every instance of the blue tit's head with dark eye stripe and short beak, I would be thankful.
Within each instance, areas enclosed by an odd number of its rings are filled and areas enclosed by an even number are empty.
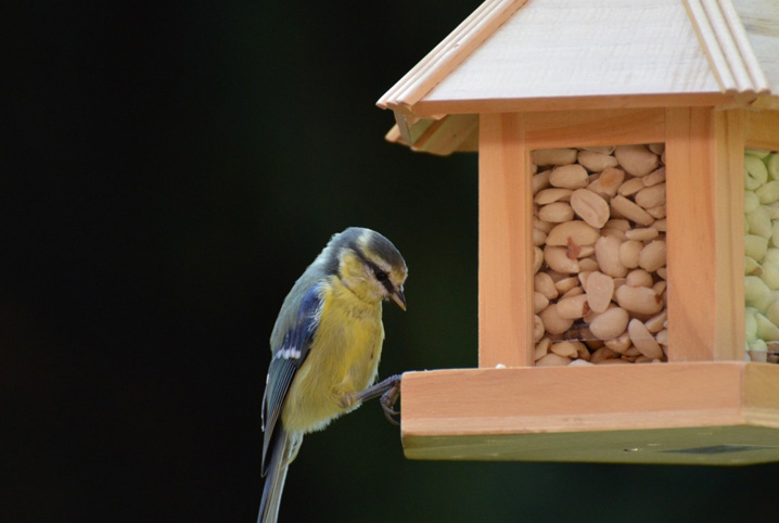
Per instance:
[[[378,303],[390,298],[406,310],[403,285],[408,268],[395,245],[370,229],[350,227],[330,244],[334,273],[360,299]]]

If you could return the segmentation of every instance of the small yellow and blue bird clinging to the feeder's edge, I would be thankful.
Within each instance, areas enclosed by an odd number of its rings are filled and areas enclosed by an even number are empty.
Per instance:
[[[399,377],[373,384],[384,341],[382,301],[406,310],[407,275],[390,240],[352,227],[332,237],[286,295],[270,335],[258,522],[277,521],[286,470],[305,434],[374,397],[392,412]]]

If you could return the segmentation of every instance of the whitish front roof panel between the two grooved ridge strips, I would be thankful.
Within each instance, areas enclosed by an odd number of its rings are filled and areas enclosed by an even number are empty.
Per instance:
[[[424,100],[707,92],[720,89],[679,0],[535,0]]]

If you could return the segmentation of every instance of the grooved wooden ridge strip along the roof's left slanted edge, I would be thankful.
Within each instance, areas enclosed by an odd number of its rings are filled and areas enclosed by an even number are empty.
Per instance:
[[[506,22],[527,0],[485,0],[471,15],[400,78],[376,105],[406,110],[471,54],[485,38]]]

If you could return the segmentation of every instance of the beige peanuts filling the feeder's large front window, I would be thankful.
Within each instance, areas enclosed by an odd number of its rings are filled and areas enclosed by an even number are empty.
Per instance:
[[[536,366],[667,360],[663,151],[533,151]]]

